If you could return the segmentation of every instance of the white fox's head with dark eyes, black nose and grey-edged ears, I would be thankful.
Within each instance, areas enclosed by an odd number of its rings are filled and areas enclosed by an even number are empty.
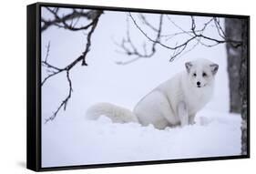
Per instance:
[[[185,63],[192,87],[207,87],[214,81],[219,65],[207,59],[197,59]]]

